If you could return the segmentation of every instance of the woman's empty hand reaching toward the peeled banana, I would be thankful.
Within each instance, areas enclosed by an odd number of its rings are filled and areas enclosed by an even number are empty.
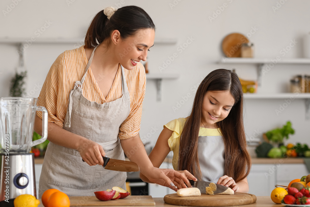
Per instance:
[[[197,180],[187,170],[176,171],[174,169],[159,169],[156,167],[148,170],[148,174],[145,176],[150,182],[169,187],[174,191],[177,191],[180,188],[192,187],[188,179],[194,181]]]

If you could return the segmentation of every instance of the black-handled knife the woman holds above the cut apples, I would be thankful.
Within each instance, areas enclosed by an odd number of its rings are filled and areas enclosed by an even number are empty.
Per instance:
[[[138,172],[139,166],[131,161],[126,160],[116,160],[109,157],[102,156],[104,164],[102,165],[104,169],[107,170],[115,170],[115,171],[122,171],[122,172]],[[82,159],[83,160],[83,159]],[[83,162],[85,162],[83,160]]]

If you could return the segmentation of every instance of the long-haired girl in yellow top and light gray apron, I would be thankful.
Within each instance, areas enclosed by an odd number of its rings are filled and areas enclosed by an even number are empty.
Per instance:
[[[197,89],[191,115],[164,125],[149,155],[154,167],[159,167],[173,151],[175,170],[189,171],[198,180],[225,185],[235,192],[247,192],[251,159],[246,149],[242,108],[237,74],[225,69],[212,71]]]

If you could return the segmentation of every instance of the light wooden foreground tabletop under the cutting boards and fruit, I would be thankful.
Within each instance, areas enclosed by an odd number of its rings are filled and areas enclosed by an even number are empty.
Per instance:
[[[39,199],[41,202],[41,199]],[[170,204],[166,204],[164,202],[164,198],[153,198],[153,200],[155,201],[155,206],[176,206],[176,205],[170,205]],[[104,202],[104,201],[102,201]],[[151,207],[153,205],[140,205],[139,207]],[[245,207],[284,207],[284,205],[277,205],[275,203],[272,202],[272,200],[270,199],[270,196],[257,196],[257,200],[256,203],[250,204],[250,205],[243,205]],[[38,207],[44,207],[42,202],[40,203],[40,205],[38,205]],[[120,206],[120,207],[125,207],[125,206]],[[128,207],[128,206],[126,206]]]

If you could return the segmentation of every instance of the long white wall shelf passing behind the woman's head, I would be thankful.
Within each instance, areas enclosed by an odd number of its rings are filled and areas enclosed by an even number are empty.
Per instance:
[[[0,43],[7,44],[27,44],[26,41],[31,41],[31,43],[40,43],[40,44],[76,44],[83,43],[84,37],[81,38],[0,38]],[[177,38],[155,38],[154,44],[176,44]]]

